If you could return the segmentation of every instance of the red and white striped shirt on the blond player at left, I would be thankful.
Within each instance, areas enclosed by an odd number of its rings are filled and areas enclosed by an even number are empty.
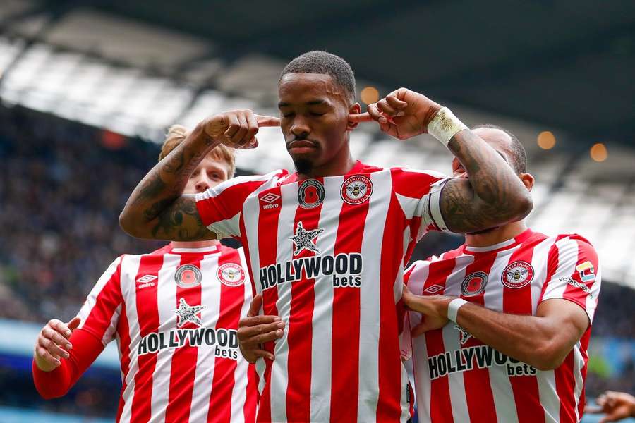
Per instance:
[[[238,350],[251,302],[243,251],[214,245],[122,255],[92,289],[79,330],[119,345],[117,422],[253,422],[255,369]]]

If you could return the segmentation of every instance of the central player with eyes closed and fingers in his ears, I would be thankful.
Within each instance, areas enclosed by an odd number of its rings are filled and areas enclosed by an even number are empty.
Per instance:
[[[269,357],[257,362],[259,421],[405,421],[397,302],[414,244],[431,229],[473,232],[521,219],[531,199],[504,159],[451,111],[404,88],[369,107],[370,118],[401,140],[431,133],[471,177],[353,159],[349,133],[368,116],[355,102],[353,71],[338,56],[312,51],[291,61],[278,106],[279,121],[249,110],[202,121],[135,188],[121,226],[140,238],[241,239],[266,315],[253,323],[281,327],[262,338],[246,324],[240,335],[265,342],[261,355]],[[182,194],[207,151],[255,147],[258,127],[278,124],[295,173]]]

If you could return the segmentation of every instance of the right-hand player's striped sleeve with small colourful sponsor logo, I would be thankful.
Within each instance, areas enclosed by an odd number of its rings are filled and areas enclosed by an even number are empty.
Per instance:
[[[600,294],[600,264],[598,254],[583,238],[558,240],[549,252],[548,279],[540,302],[562,298],[576,303],[593,322]]]

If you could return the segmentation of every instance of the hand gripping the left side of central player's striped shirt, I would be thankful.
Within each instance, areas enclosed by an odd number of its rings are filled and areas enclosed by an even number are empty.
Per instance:
[[[238,346],[241,354],[250,363],[255,363],[258,357],[274,359],[274,355],[262,349],[262,344],[282,338],[284,321],[278,316],[259,316],[262,305],[262,295],[253,298],[247,317],[238,321]]]

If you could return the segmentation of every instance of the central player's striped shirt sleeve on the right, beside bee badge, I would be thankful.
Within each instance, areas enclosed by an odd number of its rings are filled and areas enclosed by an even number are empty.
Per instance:
[[[449,178],[434,171],[392,169],[394,193],[409,220],[411,238],[428,231],[448,231],[440,209],[441,191]]]

